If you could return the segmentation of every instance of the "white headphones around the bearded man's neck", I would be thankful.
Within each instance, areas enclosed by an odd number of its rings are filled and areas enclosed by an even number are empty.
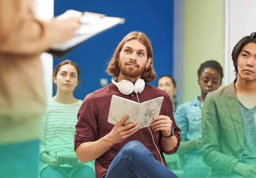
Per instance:
[[[141,93],[145,88],[145,82],[143,79],[137,79],[134,85],[130,80],[124,79],[124,80],[121,80],[120,82],[116,82],[116,79],[117,77],[114,76],[111,81],[114,85],[116,85],[118,90],[124,95],[129,95],[132,92]]]

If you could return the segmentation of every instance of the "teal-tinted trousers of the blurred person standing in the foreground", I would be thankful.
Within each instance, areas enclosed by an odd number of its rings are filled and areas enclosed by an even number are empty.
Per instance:
[[[39,140],[0,146],[0,178],[38,178]]]

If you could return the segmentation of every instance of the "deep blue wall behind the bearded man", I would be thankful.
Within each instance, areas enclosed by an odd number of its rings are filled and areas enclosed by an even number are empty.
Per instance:
[[[76,62],[81,69],[81,86],[74,93],[76,98],[84,99],[88,93],[101,88],[101,78],[111,82],[111,76],[105,73],[106,63],[120,40],[131,31],[142,31],[151,40],[157,77],[172,75],[173,0],[55,0],[54,6],[55,16],[67,9],[74,9],[122,17],[126,20],[124,24],[88,40],[66,57]],[[53,67],[59,62],[59,59],[54,58]],[[149,84],[156,86],[157,80]]]

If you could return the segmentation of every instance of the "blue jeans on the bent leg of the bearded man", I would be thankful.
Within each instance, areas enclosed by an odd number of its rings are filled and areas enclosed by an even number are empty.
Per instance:
[[[142,143],[130,141],[113,159],[105,178],[177,178],[177,175],[155,160]]]

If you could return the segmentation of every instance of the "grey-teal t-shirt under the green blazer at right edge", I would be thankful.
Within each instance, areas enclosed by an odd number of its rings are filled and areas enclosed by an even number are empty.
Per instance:
[[[242,161],[246,164],[256,164],[256,106],[252,109],[244,107],[239,101],[243,130],[244,130],[244,153]]]

